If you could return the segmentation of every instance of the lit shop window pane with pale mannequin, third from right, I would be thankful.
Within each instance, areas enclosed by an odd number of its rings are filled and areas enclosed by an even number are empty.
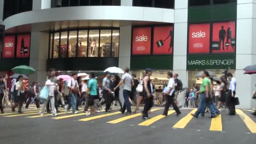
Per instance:
[[[99,46],[99,30],[90,30],[89,31],[89,48],[88,56],[97,57],[98,56],[98,46]]]

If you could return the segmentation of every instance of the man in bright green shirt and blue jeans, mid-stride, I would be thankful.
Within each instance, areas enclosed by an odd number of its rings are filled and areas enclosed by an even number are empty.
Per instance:
[[[194,117],[198,117],[199,114],[201,112],[204,111],[205,109],[205,105],[210,109],[211,111],[211,118],[216,117],[216,111],[213,108],[213,105],[211,104],[210,101],[208,101],[209,99],[209,95],[210,95],[210,91],[211,91],[211,80],[209,79],[209,72],[204,71],[202,78],[203,78],[203,83],[200,87],[200,90],[197,91],[196,94],[200,94],[200,104],[199,107],[197,109],[197,111],[195,112],[195,114],[191,114]]]

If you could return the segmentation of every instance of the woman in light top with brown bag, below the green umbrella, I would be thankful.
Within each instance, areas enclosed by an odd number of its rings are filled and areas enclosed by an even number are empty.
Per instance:
[[[15,112],[15,107],[19,105],[19,110],[18,113],[23,113],[21,112],[21,107],[23,102],[25,101],[25,83],[23,81],[23,76],[20,75],[17,78],[17,82],[14,86],[14,105],[12,107],[12,111]]]

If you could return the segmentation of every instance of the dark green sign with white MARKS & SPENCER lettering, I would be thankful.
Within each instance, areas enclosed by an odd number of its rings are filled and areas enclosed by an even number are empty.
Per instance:
[[[230,57],[188,57],[187,69],[235,69],[235,56]]]

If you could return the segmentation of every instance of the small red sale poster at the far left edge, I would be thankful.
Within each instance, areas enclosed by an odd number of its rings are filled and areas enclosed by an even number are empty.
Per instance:
[[[3,58],[13,58],[15,47],[15,35],[5,36],[3,44]]]

